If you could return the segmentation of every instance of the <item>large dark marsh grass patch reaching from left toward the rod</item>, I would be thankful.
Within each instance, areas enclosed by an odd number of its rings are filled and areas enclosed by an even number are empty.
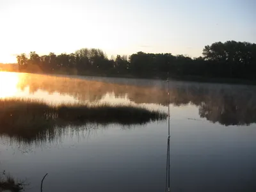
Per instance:
[[[42,100],[0,99],[0,134],[28,140],[52,137],[56,127],[68,125],[136,125],[165,118],[164,112],[132,105],[76,103],[57,106]]]

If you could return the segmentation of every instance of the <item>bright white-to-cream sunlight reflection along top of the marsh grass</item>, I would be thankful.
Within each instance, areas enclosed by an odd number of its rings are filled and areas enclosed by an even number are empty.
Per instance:
[[[7,99],[7,98],[20,98],[20,99],[36,99],[40,101],[47,102],[49,104],[63,104],[63,103],[77,103],[77,102],[90,102],[90,93],[88,93],[88,99],[79,100],[76,99],[74,95],[68,95],[67,93],[60,93],[60,92],[52,92],[49,93],[38,86],[36,91],[31,91],[30,86],[35,82],[29,82],[28,76],[36,76],[34,74],[19,74],[19,73],[11,73],[11,72],[0,72],[0,98]],[[51,77],[49,77],[51,78]],[[29,79],[31,80],[31,79]],[[40,78],[36,79],[40,82]],[[8,82],[6,84],[6,82]],[[20,86],[25,84],[22,89]],[[68,86],[67,86],[68,90]],[[85,88],[86,90],[86,88]],[[88,90],[90,92],[90,90]],[[115,95],[115,92],[107,92],[105,95],[102,95],[99,100],[95,100],[98,104],[123,104],[123,105],[133,105],[133,106],[143,106],[149,109],[165,109],[161,104],[136,104],[135,102],[129,99],[127,93],[124,95]]]

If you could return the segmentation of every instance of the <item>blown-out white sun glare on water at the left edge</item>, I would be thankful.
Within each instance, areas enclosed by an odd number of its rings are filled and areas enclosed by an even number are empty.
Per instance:
[[[15,97],[18,92],[19,74],[0,72],[0,99]]]

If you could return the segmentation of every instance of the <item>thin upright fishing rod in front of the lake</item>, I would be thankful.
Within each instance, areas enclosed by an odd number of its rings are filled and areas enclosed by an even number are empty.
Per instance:
[[[166,152],[166,175],[165,175],[165,192],[170,192],[170,87],[169,87],[169,72],[167,74],[168,82],[168,139],[167,139],[167,152]]]

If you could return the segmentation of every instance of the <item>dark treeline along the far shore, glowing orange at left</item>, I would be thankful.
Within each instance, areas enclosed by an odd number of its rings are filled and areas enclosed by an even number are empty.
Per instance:
[[[227,41],[207,45],[202,56],[171,53],[153,54],[137,52],[131,56],[116,58],[108,56],[100,49],[79,49],[59,55],[51,52],[39,56],[30,52],[17,56],[21,72],[45,72],[105,76],[162,77],[169,72],[172,77],[221,77],[255,80],[256,44]]]

